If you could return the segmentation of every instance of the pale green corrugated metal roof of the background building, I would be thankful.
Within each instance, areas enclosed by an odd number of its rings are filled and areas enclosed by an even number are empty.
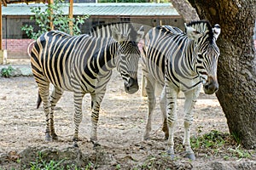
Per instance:
[[[3,15],[33,15],[31,7],[46,8],[43,3],[9,4],[3,7]],[[68,4],[62,9],[68,14]],[[90,16],[178,16],[172,3],[73,3],[73,14]]]

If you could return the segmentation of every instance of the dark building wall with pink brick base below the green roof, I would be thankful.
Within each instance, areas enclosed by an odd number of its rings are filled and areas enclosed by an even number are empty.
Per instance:
[[[148,31],[154,26],[171,25],[183,29],[184,21],[181,17],[116,17],[92,16],[86,20],[83,26],[80,26],[82,33],[89,33],[92,26],[101,24],[116,23],[116,22],[132,22],[138,26],[143,25],[145,31]],[[32,25],[35,23],[30,20],[30,16],[3,16],[3,49],[7,49],[8,58],[29,58],[27,47],[33,40],[27,39],[25,31],[21,31],[21,26]]]

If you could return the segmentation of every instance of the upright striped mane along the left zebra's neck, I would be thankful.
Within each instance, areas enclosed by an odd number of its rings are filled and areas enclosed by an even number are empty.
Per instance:
[[[123,33],[128,34],[128,31],[129,31],[129,35],[128,35],[129,39],[131,41],[136,41],[137,31],[135,26],[133,26],[133,24],[130,22],[114,22],[114,23],[102,24],[99,26],[93,26],[90,29],[90,35],[93,35],[94,37],[102,37],[102,36],[112,37],[111,26],[119,27],[120,31]]]

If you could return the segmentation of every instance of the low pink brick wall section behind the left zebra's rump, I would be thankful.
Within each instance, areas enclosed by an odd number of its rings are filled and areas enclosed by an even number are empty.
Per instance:
[[[26,59],[28,45],[34,40],[32,39],[3,39],[3,49],[7,49],[7,57],[9,59]]]

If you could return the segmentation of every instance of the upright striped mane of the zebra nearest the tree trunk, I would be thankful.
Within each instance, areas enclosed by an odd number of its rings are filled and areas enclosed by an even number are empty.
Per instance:
[[[199,32],[207,32],[207,39],[208,41],[212,44],[214,40],[214,33],[212,31],[212,26],[209,21],[207,20],[196,20],[196,21],[191,21],[187,26],[191,26],[195,28],[196,31]]]

